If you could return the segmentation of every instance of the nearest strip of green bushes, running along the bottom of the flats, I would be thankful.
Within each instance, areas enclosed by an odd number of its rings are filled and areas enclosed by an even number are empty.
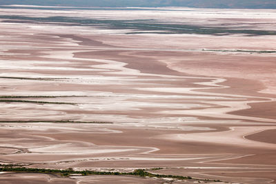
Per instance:
[[[29,168],[29,167],[10,167],[3,166],[0,167],[0,172],[31,172],[31,173],[43,173],[43,174],[60,174],[61,176],[70,176],[70,174],[81,174],[82,176],[88,175],[120,175],[120,176],[142,176],[142,177],[155,177],[155,178],[175,178],[177,180],[197,180],[197,181],[211,181],[211,180],[201,180],[197,178],[192,178],[190,176],[174,176],[166,174],[152,174],[146,172],[146,170],[135,170],[134,172],[99,172],[99,171],[90,171],[82,170],[75,171],[72,168],[67,170],[50,170],[50,169],[39,169],[39,168]],[[214,180],[213,180],[214,181]],[[219,182],[215,180],[214,182]]]

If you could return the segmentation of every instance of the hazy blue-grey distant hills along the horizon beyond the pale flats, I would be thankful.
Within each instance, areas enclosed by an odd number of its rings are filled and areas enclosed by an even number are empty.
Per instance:
[[[276,8],[276,0],[0,0],[0,5],[164,7],[193,8]]]

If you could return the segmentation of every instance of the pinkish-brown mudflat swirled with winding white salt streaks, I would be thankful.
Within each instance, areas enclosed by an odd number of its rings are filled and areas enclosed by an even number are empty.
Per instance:
[[[70,12],[39,11],[42,17]],[[110,18],[122,10],[93,11]],[[203,19],[201,11],[186,15]],[[34,16],[35,10],[5,12]],[[79,17],[89,13],[74,10]],[[145,19],[147,13],[139,12]],[[168,21],[166,16],[159,19]],[[217,24],[226,21],[214,12],[211,17]],[[247,21],[258,29],[262,22]],[[272,50],[268,40],[275,36],[118,32],[0,23],[1,163],[75,170],[161,167],[151,172],[275,183],[275,54],[202,50]],[[164,183],[130,176],[0,174],[7,183],[21,177],[37,183]]]

